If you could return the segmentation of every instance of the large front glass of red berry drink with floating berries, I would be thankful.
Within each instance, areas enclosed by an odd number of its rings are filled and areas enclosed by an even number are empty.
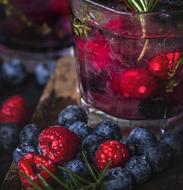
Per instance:
[[[119,0],[71,0],[71,5],[81,105],[127,131],[137,126],[179,129],[182,4],[173,11],[156,5],[149,13],[133,12]]]

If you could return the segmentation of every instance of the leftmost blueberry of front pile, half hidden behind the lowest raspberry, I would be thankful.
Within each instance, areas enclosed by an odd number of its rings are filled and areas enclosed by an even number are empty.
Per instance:
[[[14,151],[13,151],[13,160],[18,163],[18,161],[21,159],[21,157],[23,155],[25,155],[26,153],[29,152],[37,152],[37,150],[35,149],[35,147],[31,147],[31,146],[21,146],[21,147],[17,147]]]

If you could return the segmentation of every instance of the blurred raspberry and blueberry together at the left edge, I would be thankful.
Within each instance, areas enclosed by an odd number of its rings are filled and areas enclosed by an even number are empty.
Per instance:
[[[31,117],[26,100],[11,96],[0,105],[0,147],[11,151],[18,144],[18,134]]]

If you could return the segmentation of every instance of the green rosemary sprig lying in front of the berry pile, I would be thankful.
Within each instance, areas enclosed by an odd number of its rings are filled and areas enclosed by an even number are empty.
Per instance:
[[[58,188],[61,188],[63,190],[100,189],[111,163],[109,162],[109,164],[104,168],[102,172],[98,172],[88,160],[86,153],[82,152],[82,155],[83,155],[83,160],[89,171],[88,179],[85,179],[84,177],[79,176],[78,174],[74,173],[73,171],[67,168],[58,166],[57,167],[58,170],[60,170],[62,173],[63,172],[67,173],[69,176],[69,180],[63,181],[59,177],[57,177],[55,174],[50,172],[44,165],[40,164],[40,167],[43,170],[45,170],[50,175],[50,177],[58,184]],[[48,184],[48,182],[46,182],[46,180],[41,175],[38,175],[38,178],[42,184],[42,187],[38,186],[30,177],[26,176],[25,174],[23,176],[29,181],[29,183],[32,185],[32,189],[34,190],[53,190],[54,189],[53,187],[51,187],[50,184]]]

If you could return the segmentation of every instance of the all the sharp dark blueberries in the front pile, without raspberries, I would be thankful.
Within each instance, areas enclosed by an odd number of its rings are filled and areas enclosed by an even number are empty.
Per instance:
[[[124,167],[110,169],[103,183],[104,190],[131,190],[134,184],[143,184],[152,174],[164,171],[168,165],[183,156],[182,137],[173,132],[164,133],[157,139],[146,128],[135,128],[127,139],[122,138],[119,127],[111,121],[98,123],[94,129],[87,125],[87,114],[76,105],[68,106],[58,117],[58,123],[77,134],[81,139],[81,149],[92,160],[98,146],[105,140],[118,140],[129,149],[130,160]],[[23,128],[19,135],[20,145],[15,149],[16,162],[28,152],[39,152],[40,129],[35,124]],[[81,152],[65,167],[81,176],[87,176],[87,167]],[[64,178],[69,178],[67,174]]]

